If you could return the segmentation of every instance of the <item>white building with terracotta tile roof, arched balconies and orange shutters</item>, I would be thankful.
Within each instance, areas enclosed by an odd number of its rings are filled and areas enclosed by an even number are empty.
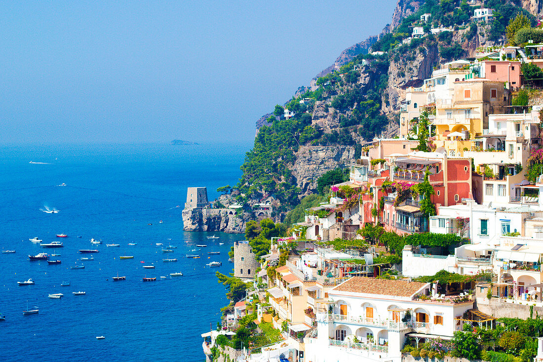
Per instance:
[[[330,313],[317,314],[317,337],[304,339],[306,360],[400,362],[408,335],[421,342],[451,339],[473,301],[431,296],[431,288],[430,283],[366,277],[339,284],[329,291]]]

